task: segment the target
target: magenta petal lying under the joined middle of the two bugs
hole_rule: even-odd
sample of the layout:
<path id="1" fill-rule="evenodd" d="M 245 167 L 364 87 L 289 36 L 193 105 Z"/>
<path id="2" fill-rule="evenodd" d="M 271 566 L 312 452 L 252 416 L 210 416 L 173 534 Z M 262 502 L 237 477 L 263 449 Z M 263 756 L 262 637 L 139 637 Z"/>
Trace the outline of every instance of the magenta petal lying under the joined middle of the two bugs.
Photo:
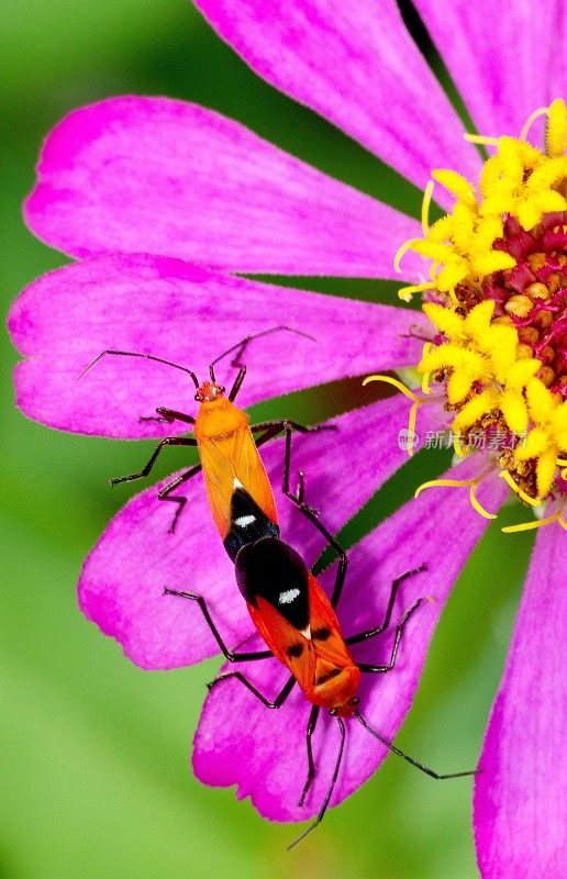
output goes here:
<path id="1" fill-rule="evenodd" d="M 397 438 L 407 410 L 405 398 L 394 397 L 335 419 L 336 431 L 292 437 L 292 488 L 301 468 L 305 500 L 324 507 L 321 521 L 332 532 L 405 461 Z M 284 442 L 271 443 L 262 455 L 275 490 L 279 489 Z M 132 469 L 144 463 L 133 449 Z M 352 478 L 353 470 L 357 479 Z M 156 486 L 133 498 L 90 553 L 80 578 L 84 613 L 144 668 L 186 666 L 219 653 L 199 608 L 164 596 L 165 587 L 202 594 L 231 646 L 253 630 L 212 523 L 200 474 L 187 483 L 185 493 L 189 503 L 175 534 L 168 533 L 173 504 L 157 499 Z M 276 497 L 282 534 L 293 534 L 305 558 L 314 561 L 324 538 L 279 491 Z"/>

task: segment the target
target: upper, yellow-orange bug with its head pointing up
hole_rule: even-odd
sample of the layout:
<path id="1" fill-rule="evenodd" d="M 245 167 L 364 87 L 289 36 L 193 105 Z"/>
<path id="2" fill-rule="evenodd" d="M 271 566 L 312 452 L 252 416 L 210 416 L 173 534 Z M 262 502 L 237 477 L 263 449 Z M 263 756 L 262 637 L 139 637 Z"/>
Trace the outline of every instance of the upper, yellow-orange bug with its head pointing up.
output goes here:
<path id="1" fill-rule="evenodd" d="M 202 469 L 214 524 L 221 535 L 226 552 L 233 560 L 241 546 L 264 536 L 279 535 L 276 501 L 264 464 L 258 454 L 258 446 L 267 443 L 269 439 L 277 436 L 278 433 L 281 433 L 281 431 L 286 431 L 286 433 L 289 434 L 293 430 L 301 433 L 309 433 L 325 429 L 320 426 L 305 427 L 302 424 L 288 420 L 265 421 L 259 424 L 251 425 L 246 413 L 234 404 L 234 399 L 246 375 L 246 367 L 240 363 L 240 358 L 246 346 L 254 340 L 281 331 L 297 333 L 307 338 L 312 338 L 312 336 L 308 336 L 305 333 L 301 333 L 299 330 L 292 330 L 289 326 L 274 326 L 256 335 L 247 336 L 236 345 L 227 348 L 227 351 L 223 352 L 223 354 L 212 361 L 209 366 L 210 380 L 203 381 L 202 383 L 199 382 L 196 374 L 191 369 L 174 364 L 170 360 L 165 360 L 162 357 L 156 357 L 153 354 L 140 354 L 125 351 L 102 352 L 79 376 L 79 378 L 84 376 L 85 372 L 94 366 L 104 355 L 145 357 L 146 359 L 156 360 L 157 363 L 166 364 L 188 372 L 196 387 L 194 399 L 200 404 L 197 419 L 184 412 L 158 407 L 156 409 L 157 416 L 153 415 L 142 418 L 141 420 L 159 421 L 168 424 L 174 421 L 180 421 L 192 425 L 194 436 L 165 437 L 156 446 L 149 460 L 140 472 L 122 476 L 118 479 L 111 479 L 110 481 L 111 485 L 115 486 L 119 482 L 130 482 L 134 479 L 148 476 L 159 453 L 165 446 L 197 446 L 201 463 L 176 477 L 171 482 L 159 490 L 157 497 L 159 500 L 173 501 L 178 504 L 169 528 L 169 531 L 173 532 L 187 503 L 187 498 L 178 494 L 173 496 L 171 492 Z M 226 389 L 216 381 L 214 367 L 220 360 L 234 352 L 237 352 L 237 354 L 232 360 L 232 366 L 237 366 L 240 369 L 226 396 Z M 329 427 L 326 427 L 326 430 L 329 430 Z M 256 442 L 254 441 L 253 433 L 260 434 Z"/>

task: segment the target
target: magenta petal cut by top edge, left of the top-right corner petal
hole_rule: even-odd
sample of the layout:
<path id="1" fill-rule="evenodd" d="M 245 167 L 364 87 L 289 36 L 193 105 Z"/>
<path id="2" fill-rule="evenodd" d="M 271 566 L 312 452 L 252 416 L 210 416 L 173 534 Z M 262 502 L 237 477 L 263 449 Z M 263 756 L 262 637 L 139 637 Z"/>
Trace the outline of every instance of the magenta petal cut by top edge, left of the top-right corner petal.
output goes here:
<path id="1" fill-rule="evenodd" d="M 423 188 L 478 156 L 393 0 L 196 0 L 259 76 Z"/>

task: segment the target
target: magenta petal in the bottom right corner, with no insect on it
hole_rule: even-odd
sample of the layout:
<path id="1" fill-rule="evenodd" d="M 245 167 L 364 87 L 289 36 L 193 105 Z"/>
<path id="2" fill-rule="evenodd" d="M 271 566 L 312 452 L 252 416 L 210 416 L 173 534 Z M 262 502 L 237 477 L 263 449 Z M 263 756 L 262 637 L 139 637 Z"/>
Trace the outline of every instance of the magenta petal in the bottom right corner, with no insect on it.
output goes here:
<path id="1" fill-rule="evenodd" d="M 475 783 L 485 879 L 565 876 L 567 535 L 537 535 Z"/>

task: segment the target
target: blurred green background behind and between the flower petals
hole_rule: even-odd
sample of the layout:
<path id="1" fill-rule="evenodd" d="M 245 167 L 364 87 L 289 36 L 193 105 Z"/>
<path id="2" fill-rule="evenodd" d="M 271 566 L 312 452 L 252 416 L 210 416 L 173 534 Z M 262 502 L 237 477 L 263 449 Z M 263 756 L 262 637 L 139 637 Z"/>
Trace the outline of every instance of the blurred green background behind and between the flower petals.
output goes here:
<path id="1" fill-rule="evenodd" d="M 2 11 L 3 313 L 64 257 L 21 220 L 42 137 L 70 109 L 110 94 L 187 98 L 237 118 L 296 155 L 410 213 L 420 194 L 333 127 L 256 79 L 185 0 L 9 0 Z M 297 282 L 297 281 L 296 281 Z M 301 283 L 393 301 L 378 282 Z M 0 877 L 477 876 L 470 782 L 436 785 L 390 757 L 297 850 L 233 791 L 191 775 L 192 732 L 218 663 L 169 672 L 134 668 L 78 612 L 81 559 L 129 497 L 107 478 L 145 459 L 144 444 L 71 436 L 13 407 L 15 353 L 2 334 L 0 613 Z M 257 407 L 264 418 L 331 415 L 344 387 Z M 147 449 L 153 444 L 146 444 Z M 176 468 L 174 454 L 157 476 Z M 353 543 L 409 498 L 426 466 L 404 468 L 344 535 Z M 446 456 L 434 467 L 441 471 Z M 509 508 L 470 559 L 435 635 L 398 742 L 442 771 L 474 766 L 505 656 L 530 535 L 502 535 Z"/>

